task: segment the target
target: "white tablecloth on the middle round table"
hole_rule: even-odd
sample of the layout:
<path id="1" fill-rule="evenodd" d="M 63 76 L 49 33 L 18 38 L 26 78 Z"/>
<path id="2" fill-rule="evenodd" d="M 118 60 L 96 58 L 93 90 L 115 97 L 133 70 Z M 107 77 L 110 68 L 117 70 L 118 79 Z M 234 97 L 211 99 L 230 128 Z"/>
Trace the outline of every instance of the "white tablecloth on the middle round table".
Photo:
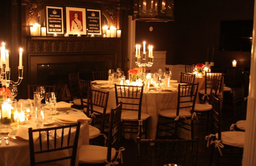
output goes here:
<path id="1" fill-rule="evenodd" d="M 110 90 L 109 88 L 100 88 L 99 86 L 95 85 L 92 86 L 92 89 L 109 92 L 108 107 L 116 107 L 115 90 Z M 159 93 L 152 90 L 151 93 L 147 93 L 146 90 L 144 90 L 141 111 L 150 115 L 148 122 L 148 139 L 156 138 L 156 127 L 160 109 L 177 108 L 177 97 L 177 91 Z"/>

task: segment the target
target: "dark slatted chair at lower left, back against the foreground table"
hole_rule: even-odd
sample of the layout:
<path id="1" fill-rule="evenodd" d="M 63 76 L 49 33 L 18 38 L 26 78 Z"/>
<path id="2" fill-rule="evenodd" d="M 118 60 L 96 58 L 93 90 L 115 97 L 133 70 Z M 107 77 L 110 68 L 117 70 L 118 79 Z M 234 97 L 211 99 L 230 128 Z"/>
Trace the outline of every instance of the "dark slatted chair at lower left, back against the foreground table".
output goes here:
<path id="1" fill-rule="evenodd" d="M 76 132 L 75 134 L 72 134 L 71 128 L 74 127 L 76 127 Z M 57 136 L 56 131 L 58 130 L 61 130 L 61 135 Z M 49 134 L 50 131 L 55 132 L 54 136 Z M 43 129 L 28 128 L 30 165 L 35 166 L 38 164 L 57 162 L 60 160 L 71 160 L 70 166 L 75 166 L 79 131 L 80 122 L 78 122 L 77 124 L 64 125 L 59 127 L 49 127 Z M 44 134 L 44 136 L 46 136 L 46 140 L 42 138 L 43 133 L 46 133 Z M 39 143 L 35 142 L 33 139 L 33 135 L 35 134 L 39 134 Z M 49 138 L 50 136 L 51 138 Z M 50 141 L 54 142 L 54 146 L 50 145 Z M 68 153 L 69 155 L 65 155 L 66 150 L 72 150 L 72 153 Z M 36 161 L 39 159 L 39 155 L 54 155 L 53 153 L 55 152 L 58 152 L 58 157 L 56 158 L 49 159 L 45 157 L 40 157 L 40 161 Z"/>

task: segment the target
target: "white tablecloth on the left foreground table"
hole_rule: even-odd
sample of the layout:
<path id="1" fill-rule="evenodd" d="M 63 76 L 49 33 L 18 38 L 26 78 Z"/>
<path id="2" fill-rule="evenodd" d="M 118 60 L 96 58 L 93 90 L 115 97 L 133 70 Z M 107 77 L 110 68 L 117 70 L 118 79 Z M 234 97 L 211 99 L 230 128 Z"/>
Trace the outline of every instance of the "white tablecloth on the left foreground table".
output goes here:
<path id="1" fill-rule="evenodd" d="M 59 111 L 60 114 L 64 114 L 65 111 L 68 109 L 62 109 Z M 82 113 L 82 112 L 81 112 Z M 32 123 L 35 121 L 35 117 L 29 120 Z M 55 123 L 52 125 L 45 125 L 46 127 L 54 127 L 56 126 Z M 72 129 L 72 134 L 75 134 L 75 129 Z M 61 135 L 61 132 L 57 132 L 58 135 Z M 3 136 L 2 136 L 3 137 Z M 67 135 L 65 135 L 67 138 Z M 60 138 L 60 137 L 59 137 Z M 46 139 L 46 135 L 42 135 L 42 139 Z M 53 146 L 54 140 L 50 138 L 50 146 Z M 35 141 L 35 144 L 39 144 L 39 139 Z M 73 143 L 72 143 L 73 144 Z M 77 158 L 76 158 L 76 165 L 78 165 L 78 156 L 79 156 L 79 147 L 82 144 L 89 144 L 89 125 L 88 121 L 84 121 L 81 123 L 80 133 L 79 133 L 79 140 L 78 140 L 78 148 L 77 148 Z M 59 152 L 60 153 L 60 152 Z M 65 152 L 65 153 L 70 153 Z M 40 155 L 43 156 L 42 158 L 54 158 L 55 155 L 58 154 L 44 154 Z M 67 160 L 57 162 L 62 166 L 68 166 L 70 163 Z M 0 165 L 5 166 L 28 166 L 30 165 L 30 157 L 29 157 L 29 144 L 27 140 L 13 140 L 9 139 L 9 145 L 5 145 L 5 140 L 2 139 L 2 145 L 0 145 Z"/>

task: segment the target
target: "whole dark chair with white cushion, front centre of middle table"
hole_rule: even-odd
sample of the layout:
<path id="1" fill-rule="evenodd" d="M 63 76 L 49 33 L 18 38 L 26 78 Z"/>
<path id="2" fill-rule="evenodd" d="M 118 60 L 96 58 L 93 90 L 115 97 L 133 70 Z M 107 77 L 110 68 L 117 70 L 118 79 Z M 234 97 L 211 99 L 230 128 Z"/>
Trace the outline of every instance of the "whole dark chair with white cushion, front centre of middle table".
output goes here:
<path id="1" fill-rule="evenodd" d="M 116 85 L 116 105 L 123 101 L 122 125 L 123 133 L 137 133 L 139 137 L 148 137 L 148 119 L 150 115 L 141 112 L 143 86 Z"/>

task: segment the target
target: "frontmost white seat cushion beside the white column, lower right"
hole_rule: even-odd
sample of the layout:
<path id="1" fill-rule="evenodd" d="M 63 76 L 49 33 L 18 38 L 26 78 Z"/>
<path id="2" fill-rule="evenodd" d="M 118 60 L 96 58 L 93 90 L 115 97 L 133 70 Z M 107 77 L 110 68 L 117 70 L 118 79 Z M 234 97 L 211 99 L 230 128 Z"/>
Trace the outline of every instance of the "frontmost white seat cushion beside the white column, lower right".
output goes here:
<path id="1" fill-rule="evenodd" d="M 244 134 L 245 132 L 221 132 L 221 140 L 223 144 L 233 147 L 244 147 Z M 216 133 L 218 139 L 218 133 Z M 224 145 L 225 146 L 225 145 Z"/>

